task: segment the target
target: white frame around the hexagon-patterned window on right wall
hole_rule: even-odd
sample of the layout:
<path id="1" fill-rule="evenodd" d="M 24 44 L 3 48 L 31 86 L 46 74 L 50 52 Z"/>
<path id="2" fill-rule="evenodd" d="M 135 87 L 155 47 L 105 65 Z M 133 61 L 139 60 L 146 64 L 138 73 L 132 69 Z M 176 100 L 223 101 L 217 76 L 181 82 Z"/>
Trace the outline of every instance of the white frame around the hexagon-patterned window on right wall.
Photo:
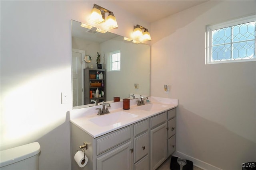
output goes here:
<path id="1" fill-rule="evenodd" d="M 234 25 L 240 25 L 243 23 L 248 23 L 248 22 L 254 22 L 256 21 L 256 15 L 252 16 L 246 16 L 243 18 L 235 19 L 235 20 L 230 20 L 226 21 L 223 23 L 219 24 L 214 24 L 214 25 L 206 25 L 206 59 L 205 59 L 205 64 L 218 64 L 218 63 L 236 63 L 236 62 L 248 62 L 248 61 L 256 61 L 256 58 L 254 59 L 235 59 L 235 60 L 225 60 L 225 61 L 211 61 L 212 59 L 212 30 L 216 29 L 222 29 Z M 256 40 L 254 43 L 254 55 L 256 55 Z"/>

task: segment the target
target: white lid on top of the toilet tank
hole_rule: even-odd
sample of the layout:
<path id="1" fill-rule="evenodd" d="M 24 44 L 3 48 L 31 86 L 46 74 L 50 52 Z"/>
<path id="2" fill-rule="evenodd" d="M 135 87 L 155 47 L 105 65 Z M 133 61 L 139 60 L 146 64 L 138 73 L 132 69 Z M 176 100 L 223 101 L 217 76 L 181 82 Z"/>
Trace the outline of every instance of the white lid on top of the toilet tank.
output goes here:
<path id="1" fill-rule="evenodd" d="M 0 167 L 14 164 L 18 161 L 35 156 L 40 152 L 40 150 L 41 149 L 38 142 L 2 150 L 0 153 Z"/>

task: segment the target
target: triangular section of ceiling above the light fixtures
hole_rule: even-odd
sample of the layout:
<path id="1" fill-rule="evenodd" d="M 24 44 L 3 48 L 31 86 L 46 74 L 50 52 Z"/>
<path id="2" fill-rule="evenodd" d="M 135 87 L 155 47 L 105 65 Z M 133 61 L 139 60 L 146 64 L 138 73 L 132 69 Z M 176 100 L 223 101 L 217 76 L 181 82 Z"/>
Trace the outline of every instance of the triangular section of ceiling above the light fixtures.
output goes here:
<path id="1" fill-rule="evenodd" d="M 207 0 L 112 0 L 116 6 L 152 23 Z"/>

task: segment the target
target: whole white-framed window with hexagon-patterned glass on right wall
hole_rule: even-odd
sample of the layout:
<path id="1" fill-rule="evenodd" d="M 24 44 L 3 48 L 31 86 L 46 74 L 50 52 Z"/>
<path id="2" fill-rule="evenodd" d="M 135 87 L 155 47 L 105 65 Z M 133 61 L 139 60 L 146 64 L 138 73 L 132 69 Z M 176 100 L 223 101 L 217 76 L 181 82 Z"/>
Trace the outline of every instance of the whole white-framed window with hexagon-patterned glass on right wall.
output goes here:
<path id="1" fill-rule="evenodd" d="M 206 64 L 256 61 L 256 16 L 206 26 Z"/>

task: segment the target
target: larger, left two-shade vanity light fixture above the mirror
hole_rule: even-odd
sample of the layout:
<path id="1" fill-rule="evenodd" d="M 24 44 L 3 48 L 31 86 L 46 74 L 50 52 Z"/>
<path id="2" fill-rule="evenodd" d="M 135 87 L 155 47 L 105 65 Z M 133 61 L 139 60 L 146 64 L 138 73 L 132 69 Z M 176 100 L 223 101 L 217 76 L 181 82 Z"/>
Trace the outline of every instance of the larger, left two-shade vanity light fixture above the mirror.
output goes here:
<path id="1" fill-rule="evenodd" d="M 106 19 L 105 19 L 105 13 L 108 13 L 108 16 L 106 17 Z M 93 5 L 89 21 L 92 21 L 96 24 L 105 22 L 105 26 L 110 29 L 118 27 L 114 13 L 111 12 L 110 10 L 102 8 L 101 6 L 98 6 L 97 4 Z"/>

